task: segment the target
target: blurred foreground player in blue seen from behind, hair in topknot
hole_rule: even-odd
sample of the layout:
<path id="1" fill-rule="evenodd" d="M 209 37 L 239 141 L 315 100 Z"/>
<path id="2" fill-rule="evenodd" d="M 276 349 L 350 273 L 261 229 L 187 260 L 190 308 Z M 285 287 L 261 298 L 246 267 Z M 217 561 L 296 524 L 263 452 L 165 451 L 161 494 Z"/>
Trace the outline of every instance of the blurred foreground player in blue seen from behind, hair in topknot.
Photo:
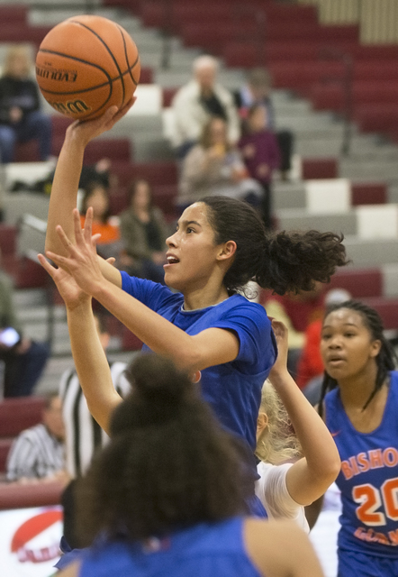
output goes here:
<path id="1" fill-rule="evenodd" d="M 106 366 L 98 345 L 90 353 Z M 247 517 L 233 437 L 188 376 L 142 355 L 127 378 L 111 442 L 77 484 L 77 530 L 91 546 L 59 577 L 321 577 L 293 522 Z"/>

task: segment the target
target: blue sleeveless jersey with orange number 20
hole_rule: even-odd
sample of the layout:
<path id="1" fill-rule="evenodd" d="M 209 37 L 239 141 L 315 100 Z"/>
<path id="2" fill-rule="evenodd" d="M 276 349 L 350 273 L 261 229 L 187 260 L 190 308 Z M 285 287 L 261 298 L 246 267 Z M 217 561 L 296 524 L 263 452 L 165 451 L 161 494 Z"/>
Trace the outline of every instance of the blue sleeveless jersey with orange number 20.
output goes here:
<path id="1" fill-rule="evenodd" d="M 325 408 L 341 459 L 339 549 L 398 558 L 398 372 L 390 374 L 383 419 L 371 433 L 351 424 L 338 388 Z"/>

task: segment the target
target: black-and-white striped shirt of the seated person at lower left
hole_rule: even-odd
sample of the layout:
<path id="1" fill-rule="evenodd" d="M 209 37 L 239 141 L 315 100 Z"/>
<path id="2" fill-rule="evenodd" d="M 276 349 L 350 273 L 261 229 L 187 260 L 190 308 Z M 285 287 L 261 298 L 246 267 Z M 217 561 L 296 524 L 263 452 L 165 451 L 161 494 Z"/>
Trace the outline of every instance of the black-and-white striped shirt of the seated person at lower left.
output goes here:
<path id="1" fill-rule="evenodd" d="M 6 464 L 7 481 L 43 479 L 65 469 L 65 445 L 43 425 L 32 426 L 14 440 Z"/>

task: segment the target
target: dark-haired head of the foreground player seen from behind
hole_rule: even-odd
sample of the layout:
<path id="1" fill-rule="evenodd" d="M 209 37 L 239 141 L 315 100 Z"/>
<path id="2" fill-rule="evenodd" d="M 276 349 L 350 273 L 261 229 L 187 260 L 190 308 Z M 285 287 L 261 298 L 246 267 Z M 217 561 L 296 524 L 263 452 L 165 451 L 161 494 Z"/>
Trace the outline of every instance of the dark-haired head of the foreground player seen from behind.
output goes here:
<path id="1" fill-rule="evenodd" d="M 131 396 L 77 492 L 85 543 L 101 531 L 140 539 L 245 512 L 238 453 L 185 373 L 147 354 L 126 375 Z"/>

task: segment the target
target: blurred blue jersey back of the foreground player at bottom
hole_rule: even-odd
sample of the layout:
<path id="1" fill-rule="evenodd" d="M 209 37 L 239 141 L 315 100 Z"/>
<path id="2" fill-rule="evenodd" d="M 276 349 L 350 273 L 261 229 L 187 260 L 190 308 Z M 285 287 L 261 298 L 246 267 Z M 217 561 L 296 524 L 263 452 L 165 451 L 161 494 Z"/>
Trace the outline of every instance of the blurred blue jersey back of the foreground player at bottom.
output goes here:
<path id="1" fill-rule="evenodd" d="M 260 577 L 243 544 L 243 524 L 233 517 L 143 544 L 100 543 L 85 552 L 79 577 Z"/>

